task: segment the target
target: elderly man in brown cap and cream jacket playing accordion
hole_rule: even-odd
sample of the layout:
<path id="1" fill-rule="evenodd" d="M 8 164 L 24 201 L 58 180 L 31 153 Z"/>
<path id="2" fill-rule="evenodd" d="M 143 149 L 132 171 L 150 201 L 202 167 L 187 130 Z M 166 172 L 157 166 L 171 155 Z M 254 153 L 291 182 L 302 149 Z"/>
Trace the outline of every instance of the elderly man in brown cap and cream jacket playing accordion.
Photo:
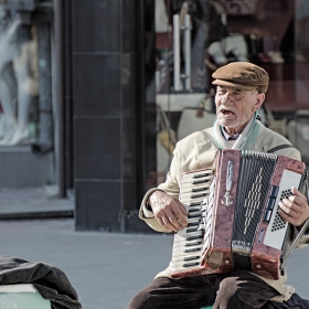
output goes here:
<path id="1" fill-rule="evenodd" d="M 181 174 L 185 171 L 209 168 L 222 149 L 242 149 L 274 152 L 300 160 L 300 153 L 290 142 L 264 127 L 257 119 L 257 110 L 265 99 L 268 87 L 267 72 L 246 62 L 230 63 L 212 75 L 216 85 L 216 120 L 206 131 L 194 132 L 180 140 L 167 181 L 147 192 L 140 217 L 158 232 L 178 232 L 187 226 L 188 212 L 178 200 Z M 213 145 L 216 143 L 216 145 Z M 296 188 L 294 196 L 279 203 L 279 214 L 295 226 L 294 235 L 309 217 L 306 196 Z M 309 235 L 300 242 L 305 245 Z M 230 274 L 201 275 L 172 279 L 171 269 L 157 275 L 153 283 L 141 290 L 131 301 L 130 309 L 200 309 L 214 308 L 309 308 L 309 301 L 301 299 L 290 286 L 279 280 L 258 277 L 246 270 Z"/>

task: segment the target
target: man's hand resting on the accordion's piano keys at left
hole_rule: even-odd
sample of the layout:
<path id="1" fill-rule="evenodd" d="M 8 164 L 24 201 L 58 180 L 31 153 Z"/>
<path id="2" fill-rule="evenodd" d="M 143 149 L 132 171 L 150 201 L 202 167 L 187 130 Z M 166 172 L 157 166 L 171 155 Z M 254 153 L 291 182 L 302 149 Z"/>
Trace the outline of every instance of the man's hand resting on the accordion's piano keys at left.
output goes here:
<path id="1" fill-rule="evenodd" d="M 159 223 L 171 232 L 178 232 L 187 226 L 189 212 L 178 199 L 162 191 L 154 191 L 149 202 L 154 217 Z"/>

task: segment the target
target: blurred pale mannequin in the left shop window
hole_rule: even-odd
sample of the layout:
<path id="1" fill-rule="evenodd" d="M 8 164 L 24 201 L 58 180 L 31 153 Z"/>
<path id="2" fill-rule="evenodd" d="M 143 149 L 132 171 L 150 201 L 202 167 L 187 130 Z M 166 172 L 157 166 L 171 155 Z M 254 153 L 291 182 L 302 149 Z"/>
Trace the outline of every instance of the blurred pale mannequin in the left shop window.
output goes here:
<path id="1" fill-rule="evenodd" d="M 29 142 L 29 108 L 32 96 L 38 95 L 38 40 L 21 44 L 18 31 L 20 22 L 14 19 L 0 39 L 0 100 L 3 109 L 4 135 L 0 145 Z M 8 55 L 11 60 L 1 55 Z M 10 70 L 11 68 L 11 70 Z M 17 104 L 14 104 L 17 98 Z"/>

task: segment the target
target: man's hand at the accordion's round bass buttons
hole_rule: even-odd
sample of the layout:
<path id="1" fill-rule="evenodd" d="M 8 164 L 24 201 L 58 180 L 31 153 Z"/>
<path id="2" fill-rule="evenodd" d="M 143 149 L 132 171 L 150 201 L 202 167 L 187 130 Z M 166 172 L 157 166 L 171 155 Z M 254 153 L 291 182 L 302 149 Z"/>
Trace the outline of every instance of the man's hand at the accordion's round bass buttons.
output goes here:
<path id="1" fill-rule="evenodd" d="M 294 195 L 279 202 L 279 214 L 294 226 L 300 226 L 309 217 L 309 206 L 306 196 L 295 187 L 291 188 L 291 192 Z"/>

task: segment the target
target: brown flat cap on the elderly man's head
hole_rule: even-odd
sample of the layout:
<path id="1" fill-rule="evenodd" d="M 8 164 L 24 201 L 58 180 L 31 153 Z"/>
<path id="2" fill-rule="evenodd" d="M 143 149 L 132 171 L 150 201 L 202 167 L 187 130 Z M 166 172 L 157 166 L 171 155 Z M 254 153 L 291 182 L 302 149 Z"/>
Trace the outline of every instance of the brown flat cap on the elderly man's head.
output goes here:
<path id="1" fill-rule="evenodd" d="M 237 87 L 243 90 L 257 89 L 266 93 L 269 83 L 268 73 L 249 62 L 232 62 L 217 68 L 212 77 L 214 85 Z"/>

